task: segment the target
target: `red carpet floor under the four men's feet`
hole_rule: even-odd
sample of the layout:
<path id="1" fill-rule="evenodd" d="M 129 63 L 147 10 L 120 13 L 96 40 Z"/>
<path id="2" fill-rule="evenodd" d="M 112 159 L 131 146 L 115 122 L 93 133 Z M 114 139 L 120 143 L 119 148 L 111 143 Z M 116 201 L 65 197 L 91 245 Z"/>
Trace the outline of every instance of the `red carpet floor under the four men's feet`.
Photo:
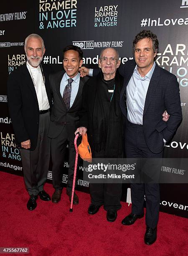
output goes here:
<path id="1" fill-rule="evenodd" d="M 36 209 L 28 211 L 23 177 L 0 172 L 0 184 L 0 247 L 28 247 L 32 256 L 188 255 L 188 219 L 161 212 L 158 239 L 147 246 L 144 218 L 132 226 L 121 224 L 131 210 L 127 203 L 109 223 L 102 207 L 96 215 L 87 213 L 90 197 L 82 192 L 77 192 L 79 205 L 69 212 L 64 189 L 58 204 L 39 198 Z M 51 184 L 45 190 L 52 195 Z"/>

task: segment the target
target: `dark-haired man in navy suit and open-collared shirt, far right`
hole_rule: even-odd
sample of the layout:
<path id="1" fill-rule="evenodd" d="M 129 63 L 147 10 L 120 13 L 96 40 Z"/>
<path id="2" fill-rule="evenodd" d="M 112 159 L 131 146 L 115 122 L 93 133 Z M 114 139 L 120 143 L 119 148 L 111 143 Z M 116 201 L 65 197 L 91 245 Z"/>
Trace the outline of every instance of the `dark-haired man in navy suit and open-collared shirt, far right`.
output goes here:
<path id="1" fill-rule="evenodd" d="M 133 41 L 135 60 L 127 61 L 120 73 L 124 87 L 120 107 L 126 118 L 125 151 L 127 158 L 162 158 L 164 143 L 169 141 L 182 120 L 179 84 L 175 75 L 158 67 L 155 56 L 158 39 L 151 31 L 142 31 Z M 164 110 L 170 118 L 161 119 Z M 132 225 L 144 216 L 146 199 L 145 243 L 157 238 L 159 184 L 131 184 L 132 212 L 122 220 Z"/>

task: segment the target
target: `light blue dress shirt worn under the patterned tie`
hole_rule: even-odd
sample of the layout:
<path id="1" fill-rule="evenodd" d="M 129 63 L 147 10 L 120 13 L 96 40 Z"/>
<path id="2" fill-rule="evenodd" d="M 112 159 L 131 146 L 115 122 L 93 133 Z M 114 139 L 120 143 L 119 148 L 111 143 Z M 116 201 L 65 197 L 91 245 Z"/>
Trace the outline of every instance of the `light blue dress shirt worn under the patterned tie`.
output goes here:
<path id="1" fill-rule="evenodd" d="M 70 77 L 65 73 L 63 78 L 61 79 L 61 84 L 60 84 L 60 93 L 61 96 L 63 97 L 64 95 L 64 89 L 66 85 L 68 84 L 68 79 Z M 72 82 L 72 88 L 71 88 L 71 102 L 70 102 L 70 108 L 72 107 L 74 100 L 76 98 L 76 95 L 79 90 L 79 83 L 80 83 L 80 73 L 78 73 L 75 77 L 72 78 L 74 81 Z"/>

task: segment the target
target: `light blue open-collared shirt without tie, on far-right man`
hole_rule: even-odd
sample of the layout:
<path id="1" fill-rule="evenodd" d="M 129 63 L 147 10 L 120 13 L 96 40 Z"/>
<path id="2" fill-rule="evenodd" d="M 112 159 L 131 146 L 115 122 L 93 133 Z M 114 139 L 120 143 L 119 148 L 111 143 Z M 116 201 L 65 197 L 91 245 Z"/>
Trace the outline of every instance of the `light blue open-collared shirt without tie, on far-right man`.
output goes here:
<path id="1" fill-rule="evenodd" d="M 127 119 L 131 123 L 143 124 L 145 98 L 154 69 L 155 61 L 145 77 L 141 77 L 136 65 L 132 77 L 127 85 Z"/>

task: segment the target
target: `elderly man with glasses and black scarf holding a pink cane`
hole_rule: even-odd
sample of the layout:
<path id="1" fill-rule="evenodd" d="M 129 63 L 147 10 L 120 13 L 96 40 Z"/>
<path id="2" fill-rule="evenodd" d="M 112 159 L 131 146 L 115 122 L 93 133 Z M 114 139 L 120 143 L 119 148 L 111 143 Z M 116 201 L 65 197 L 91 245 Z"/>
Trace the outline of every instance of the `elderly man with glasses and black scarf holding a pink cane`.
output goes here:
<path id="1" fill-rule="evenodd" d="M 80 125 L 76 130 L 88 135 L 94 158 L 120 158 L 123 156 L 123 117 L 119 107 L 123 77 L 117 72 L 119 54 L 113 48 L 102 50 L 99 59 L 101 72 L 91 77 L 83 88 L 83 109 Z M 93 215 L 104 205 L 107 220 L 117 218 L 121 208 L 122 184 L 90 183 L 91 205 L 88 213 Z"/>

